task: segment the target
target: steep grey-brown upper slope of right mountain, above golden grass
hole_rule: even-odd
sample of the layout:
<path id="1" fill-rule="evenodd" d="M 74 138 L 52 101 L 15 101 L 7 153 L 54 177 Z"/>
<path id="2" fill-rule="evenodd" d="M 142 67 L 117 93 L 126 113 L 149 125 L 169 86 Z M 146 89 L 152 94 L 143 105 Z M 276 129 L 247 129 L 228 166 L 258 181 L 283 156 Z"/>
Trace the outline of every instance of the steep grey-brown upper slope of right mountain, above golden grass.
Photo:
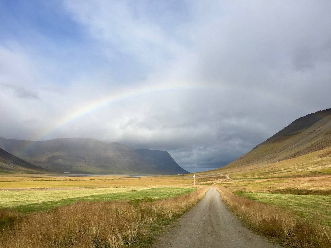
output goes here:
<path id="1" fill-rule="evenodd" d="M 331 108 L 308 114 L 223 167 L 266 164 L 331 147 Z"/>

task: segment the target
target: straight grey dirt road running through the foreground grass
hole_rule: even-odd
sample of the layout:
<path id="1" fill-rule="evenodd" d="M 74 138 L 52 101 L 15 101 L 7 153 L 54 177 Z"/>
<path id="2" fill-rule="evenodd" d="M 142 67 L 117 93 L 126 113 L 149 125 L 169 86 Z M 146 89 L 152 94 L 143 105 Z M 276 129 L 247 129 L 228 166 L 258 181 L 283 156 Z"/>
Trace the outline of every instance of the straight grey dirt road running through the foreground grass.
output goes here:
<path id="1" fill-rule="evenodd" d="M 183 215 L 152 247 L 158 248 L 276 248 L 253 233 L 227 210 L 215 188 L 191 211 Z"/>

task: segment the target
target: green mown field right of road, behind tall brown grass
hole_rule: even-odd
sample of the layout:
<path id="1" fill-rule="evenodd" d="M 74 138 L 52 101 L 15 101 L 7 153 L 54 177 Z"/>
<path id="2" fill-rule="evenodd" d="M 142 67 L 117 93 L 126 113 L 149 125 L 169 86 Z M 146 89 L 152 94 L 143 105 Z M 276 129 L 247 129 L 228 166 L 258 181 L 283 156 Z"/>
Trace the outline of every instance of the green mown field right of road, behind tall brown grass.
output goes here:
<path id="1" fill-rule="evenodd" d="M 331 195 L 294 195 L 274 193 L 246 193 L 238 192 L 247 198 L 277 205 L 297 213 L 311 221 L 325 222 L 331 226 Z"/>

